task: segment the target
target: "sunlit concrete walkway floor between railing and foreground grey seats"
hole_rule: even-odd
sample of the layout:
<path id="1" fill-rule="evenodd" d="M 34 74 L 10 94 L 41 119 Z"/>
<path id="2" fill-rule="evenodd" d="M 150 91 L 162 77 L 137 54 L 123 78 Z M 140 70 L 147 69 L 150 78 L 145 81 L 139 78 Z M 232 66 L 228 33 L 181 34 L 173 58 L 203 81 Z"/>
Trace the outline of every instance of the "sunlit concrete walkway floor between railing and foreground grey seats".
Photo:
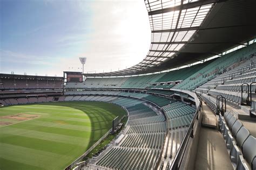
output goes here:
<path id="1" fill-rule="evenodd" d="M 222 134 L 201 127 L 194 169 L 233 169 Z"/>

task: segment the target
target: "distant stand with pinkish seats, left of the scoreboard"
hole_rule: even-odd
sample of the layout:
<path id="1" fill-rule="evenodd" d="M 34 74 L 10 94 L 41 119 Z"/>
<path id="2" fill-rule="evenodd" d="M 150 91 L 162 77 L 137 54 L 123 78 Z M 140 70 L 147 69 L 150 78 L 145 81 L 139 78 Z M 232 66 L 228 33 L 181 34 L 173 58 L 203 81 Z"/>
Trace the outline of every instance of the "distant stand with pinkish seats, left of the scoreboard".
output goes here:
<path id="1" fill-rule="evenodd" d="M 4 105 L 51 102 L 63 95 L 64 77 L 0 74 L 0 82 Z"/>

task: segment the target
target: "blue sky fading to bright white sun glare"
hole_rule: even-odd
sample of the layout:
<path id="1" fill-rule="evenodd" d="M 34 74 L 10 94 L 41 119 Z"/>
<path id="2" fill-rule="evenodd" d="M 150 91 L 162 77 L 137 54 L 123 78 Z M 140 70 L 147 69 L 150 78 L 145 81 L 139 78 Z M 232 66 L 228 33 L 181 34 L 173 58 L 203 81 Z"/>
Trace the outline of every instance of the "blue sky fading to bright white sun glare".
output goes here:
<path id="1" fill-rule="evenodd" d="M 0 73 L 63 76 L 136 65 L 150 48 L 144 1 L 0 1 Z"/>

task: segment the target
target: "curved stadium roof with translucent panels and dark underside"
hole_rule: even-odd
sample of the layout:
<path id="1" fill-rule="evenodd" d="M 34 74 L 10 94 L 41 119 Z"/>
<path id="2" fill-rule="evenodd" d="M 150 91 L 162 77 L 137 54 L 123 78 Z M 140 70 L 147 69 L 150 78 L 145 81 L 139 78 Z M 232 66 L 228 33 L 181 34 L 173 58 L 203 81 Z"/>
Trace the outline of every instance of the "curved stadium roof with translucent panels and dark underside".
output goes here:
<path id="1" fill-rule="evenodd" d="M 201 61 L 255 38 L 255 0 L 147 0 L 151 46 L 137 65 L 85 76 L 160 72 Z"/>

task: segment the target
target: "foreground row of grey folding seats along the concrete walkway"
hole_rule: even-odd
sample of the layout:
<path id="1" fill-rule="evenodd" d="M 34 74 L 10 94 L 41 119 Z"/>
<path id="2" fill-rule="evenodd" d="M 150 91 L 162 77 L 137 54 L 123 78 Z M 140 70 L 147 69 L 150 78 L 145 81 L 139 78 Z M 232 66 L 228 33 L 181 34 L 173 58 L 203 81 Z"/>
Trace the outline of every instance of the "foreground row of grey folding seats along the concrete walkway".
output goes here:
<path id="1" fill-rule="evenodd" d="M 219 116 L 220 131 L 235 169 L 256 169 L 256 138 L 230 112 Z"/>

